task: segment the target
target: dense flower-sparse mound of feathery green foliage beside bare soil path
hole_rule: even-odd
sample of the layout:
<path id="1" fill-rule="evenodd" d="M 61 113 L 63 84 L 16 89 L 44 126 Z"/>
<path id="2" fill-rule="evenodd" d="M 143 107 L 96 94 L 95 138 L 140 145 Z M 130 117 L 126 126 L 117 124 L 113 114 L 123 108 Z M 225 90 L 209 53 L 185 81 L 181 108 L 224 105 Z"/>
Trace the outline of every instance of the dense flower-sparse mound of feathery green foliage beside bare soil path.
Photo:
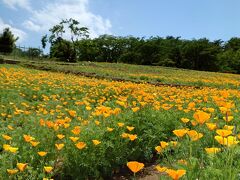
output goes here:
<path id="1" fill-rule="evenodd" d="M 101 127 L 94 130 L 88 128 L 87 133 L 81 134 L 82 139 L 90 142 L 89 147 L 76 151 L 72 145 L 72 148 L 67 149 L 63 178 L 75 179 L 81 174 L 81 178 L 108 179 L 128 161 L 138 159 L 149 162 L 155 156 L 152 147 L 158 144 L 159 140 L 169 139 L 172 130 L 179 125 L 178 113 L 155 111 L 151 107 L 143 108 L 137 113 L 131 111 L 126 113 L 108 118 Z M 129 132 L 124 127 L 118 127 L 116 119 L 125 123 L 124 126 L 134 125 L 135 129 L 130 133 L 138 135 L 135 141 L 121 137 L 122 133 Z M 107 127 L 113 127 L 114 130 L 104 131 Z M 91 143 L 93 138 L 101 139 L 102 143 L 94 147 Z"/>

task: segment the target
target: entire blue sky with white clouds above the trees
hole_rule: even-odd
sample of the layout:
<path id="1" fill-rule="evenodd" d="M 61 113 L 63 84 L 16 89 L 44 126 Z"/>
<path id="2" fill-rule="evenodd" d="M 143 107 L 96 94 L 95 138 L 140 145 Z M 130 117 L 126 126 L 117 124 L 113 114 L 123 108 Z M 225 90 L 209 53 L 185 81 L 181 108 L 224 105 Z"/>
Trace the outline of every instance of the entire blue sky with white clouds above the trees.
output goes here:
<path id="1" fill-rule="evenodd" d="M 17 44 L 39 47 L 61 19 L 74 18 L 91 36 L 240 37 L 239 0 L 0 0 L 0 31 L 10 27 Z"/>

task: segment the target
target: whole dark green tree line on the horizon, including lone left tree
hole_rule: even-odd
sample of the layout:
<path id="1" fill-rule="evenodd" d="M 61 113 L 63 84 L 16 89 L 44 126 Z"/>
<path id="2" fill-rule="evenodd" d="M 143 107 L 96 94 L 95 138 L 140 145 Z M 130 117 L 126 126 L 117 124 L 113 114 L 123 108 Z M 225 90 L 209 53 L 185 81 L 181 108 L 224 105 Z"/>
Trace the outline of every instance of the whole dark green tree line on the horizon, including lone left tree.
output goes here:
<path id="1" fill-rule="evenodd" d="M 12 52 L 16 41 L 17 38 L 6 28 L 0 34 L 0 52 Z M 50 58 L 66 62 L 121 62 L 240 73 L 238 37 L 225 42 L 173 36 L 139 38 L 101 35 L 89 38 L 89 29 L 70 18 L 53 26 L 49 34 L 42 37 L 41 43 L 43 48 L 50 44 Z"/>

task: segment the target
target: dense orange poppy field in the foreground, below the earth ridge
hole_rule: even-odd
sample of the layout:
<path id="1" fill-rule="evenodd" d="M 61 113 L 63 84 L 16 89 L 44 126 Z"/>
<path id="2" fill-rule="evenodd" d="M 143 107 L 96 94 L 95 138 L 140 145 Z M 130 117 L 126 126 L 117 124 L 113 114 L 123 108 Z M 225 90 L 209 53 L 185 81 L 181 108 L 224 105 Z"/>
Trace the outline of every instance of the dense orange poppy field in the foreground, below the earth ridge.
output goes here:
<path id="1" fill-rule="evenodd" d="M 132 179 L 154 164 L 159 179 L 239 179 L 239 99 L 237 86 L 154 86 L 0 65 L 0 176 Z"/>

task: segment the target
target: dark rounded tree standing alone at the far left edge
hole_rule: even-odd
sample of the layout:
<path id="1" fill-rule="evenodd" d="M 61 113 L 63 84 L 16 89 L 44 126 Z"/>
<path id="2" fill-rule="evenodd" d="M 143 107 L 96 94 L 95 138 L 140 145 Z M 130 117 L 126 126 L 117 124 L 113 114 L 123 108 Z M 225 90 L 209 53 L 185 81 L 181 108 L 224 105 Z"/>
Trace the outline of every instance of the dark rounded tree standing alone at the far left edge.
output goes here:
<path id="1" fill-rule="evenodd" d="M 0 52 L 11 53 L 15 48 L 15 42 L 18 37 L 15 38 L 9 28 L 5 28 L 3 33 L 0 34 Z"/>

